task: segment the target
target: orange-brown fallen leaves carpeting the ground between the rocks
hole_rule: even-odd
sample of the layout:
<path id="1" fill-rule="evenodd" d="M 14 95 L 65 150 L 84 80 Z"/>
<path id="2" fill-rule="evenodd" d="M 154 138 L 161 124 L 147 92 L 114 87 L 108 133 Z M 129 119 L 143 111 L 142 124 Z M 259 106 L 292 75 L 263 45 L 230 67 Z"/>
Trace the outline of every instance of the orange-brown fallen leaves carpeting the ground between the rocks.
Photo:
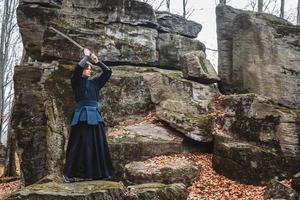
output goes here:
<path id="1" fill-rule="evenodd" d="M 188 187 L 188 200 L 260 200 L 263 199 L 264 186 L 240 184 L 217 174 L 212 169 L 212 154 L 210 153 L 184 153 L 175 157 L 186 157 L 194 160 L 199 167 L 199 173 L 193 184 Z M 154 162 L 165 162 L 174 159 L 174 156 L 154 157 Z M 282 181 L 290 184 L 289 181 Z M 21 187 L 20 180 L 0 183 L 0 199 L 8 196 Z"/>

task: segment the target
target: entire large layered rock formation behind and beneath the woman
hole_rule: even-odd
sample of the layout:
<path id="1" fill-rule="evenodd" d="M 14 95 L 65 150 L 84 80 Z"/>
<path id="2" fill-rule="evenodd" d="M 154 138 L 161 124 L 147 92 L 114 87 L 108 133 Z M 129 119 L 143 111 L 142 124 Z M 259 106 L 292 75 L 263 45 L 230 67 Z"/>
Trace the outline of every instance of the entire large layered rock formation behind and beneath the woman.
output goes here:
<path id="1" fill-rule="evenodd" d="M 70 76 L 81 56 L 78 46 L 54 29 L 93 50 L 113 69 L 101 89 L 99 106 L 116 178 L 121 180 L 129 162 L 191 149 L 185 136 L 212 141 L 214 123 L 208 105 L 219 94 L 217 88 L 186 80 L 180 70 L 174 70 L 181 69 L 183 54 L 205 51 L 204 44 L 195 39 L 201 25 L 154 12 L 135 0 L 21 0 L 17 17 L 26 54 L 38 61 L 25 62 L 15 71 L 12 128 L 17 135 L 22 182 L 28 187 L 10 199 L 186 199 L 182 183 L 129 189 L 116 182 L 88 182 L 67 187 L 58 178 L 41 178 L 63 171 L 70 118 L 76 107 Z M 149 113 L 158 116 L 155 123 L 137 123 L 149 120 Z M 122 134 L 114 135 L 115 126 L 130 123 L 133 125 L 123 127 Z M 186 172 L 172 179 L 186 184 L 196 171 L 185 165 L 173 170 Z M 75 193 L 69 195 L 72 190 Z"/>

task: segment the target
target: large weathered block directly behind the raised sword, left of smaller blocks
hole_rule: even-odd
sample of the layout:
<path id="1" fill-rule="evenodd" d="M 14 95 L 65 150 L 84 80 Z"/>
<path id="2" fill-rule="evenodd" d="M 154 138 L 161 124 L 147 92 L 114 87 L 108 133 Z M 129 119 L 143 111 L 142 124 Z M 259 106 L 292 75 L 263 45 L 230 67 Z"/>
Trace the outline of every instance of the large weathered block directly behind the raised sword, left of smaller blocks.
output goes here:
<path id="1" fill-rule="evenodd" d="M 149 4 L 134 0 L 76 1 L 72 5 L 64 2 L 57 9 L 48 7 L 43 0 L 24 1 L 17 15 L 25 49 L 34 59 L 77 61 L 80 58 L 77 46 L 48 29 L 54 26 L 94 50 L 104 61 L 157 62 L 157 23 Z M 134 57 L 130 58 L 131 55 Z M 146 63 L 141 62 L 143 59 Z"/>

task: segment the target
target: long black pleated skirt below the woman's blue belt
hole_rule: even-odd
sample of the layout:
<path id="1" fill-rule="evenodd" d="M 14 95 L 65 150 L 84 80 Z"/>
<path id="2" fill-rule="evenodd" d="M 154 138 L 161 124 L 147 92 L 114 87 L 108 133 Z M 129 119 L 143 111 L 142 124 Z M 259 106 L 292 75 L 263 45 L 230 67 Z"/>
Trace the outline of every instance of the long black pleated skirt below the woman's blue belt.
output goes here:
<path id="1" fill-rule="evenodd" d="M 64 166 L 65 176 L 93 180 L 114 176 L 104 126 L 103 122 L 89 125 L 85 121 L 71 126 Z"/>

